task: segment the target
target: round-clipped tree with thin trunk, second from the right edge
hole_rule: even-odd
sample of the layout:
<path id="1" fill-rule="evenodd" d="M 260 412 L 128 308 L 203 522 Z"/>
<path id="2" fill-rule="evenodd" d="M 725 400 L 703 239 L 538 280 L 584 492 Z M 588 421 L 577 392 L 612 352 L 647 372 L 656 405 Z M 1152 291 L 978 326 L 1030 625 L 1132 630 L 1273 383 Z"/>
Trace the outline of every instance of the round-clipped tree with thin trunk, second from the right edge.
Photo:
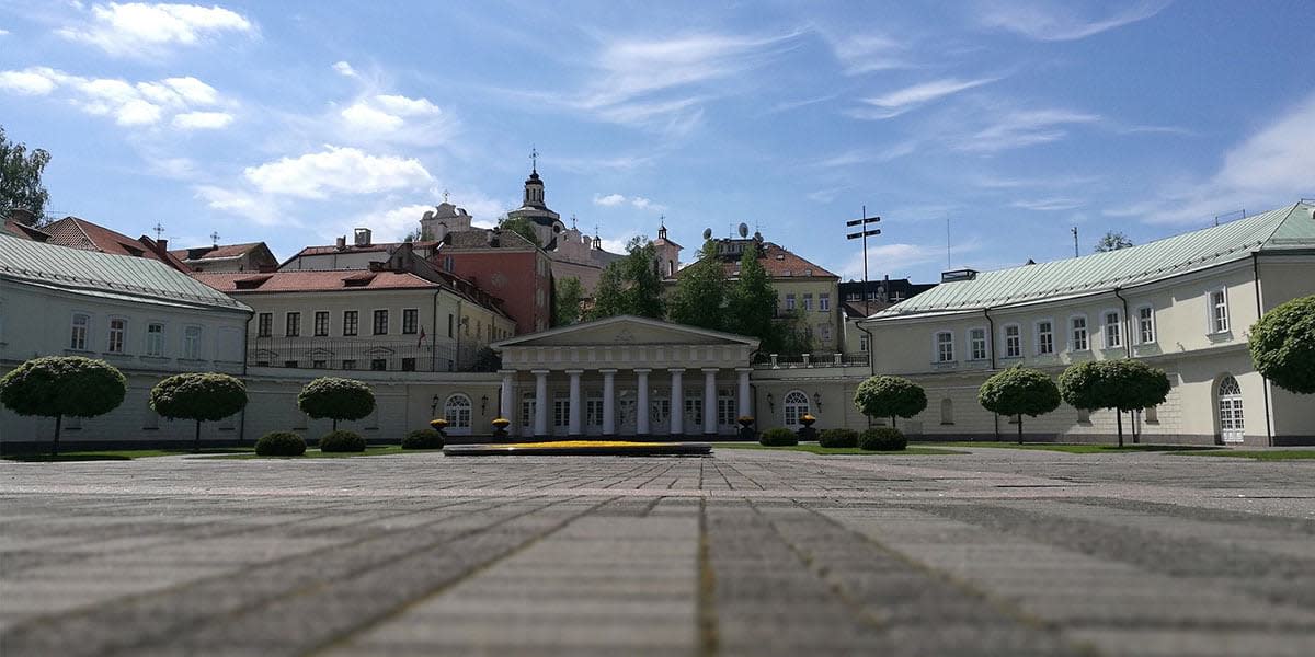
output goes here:
<path id="1" fill-rule="evenodd" d="M 1074 409 L 1114 409 L 1123 447 L 1123 413 L 1164 403 L 1172 385 L 1162 369 L 1140 360 L 1094 360 L 1060 374 L 1060 397 Z"/>

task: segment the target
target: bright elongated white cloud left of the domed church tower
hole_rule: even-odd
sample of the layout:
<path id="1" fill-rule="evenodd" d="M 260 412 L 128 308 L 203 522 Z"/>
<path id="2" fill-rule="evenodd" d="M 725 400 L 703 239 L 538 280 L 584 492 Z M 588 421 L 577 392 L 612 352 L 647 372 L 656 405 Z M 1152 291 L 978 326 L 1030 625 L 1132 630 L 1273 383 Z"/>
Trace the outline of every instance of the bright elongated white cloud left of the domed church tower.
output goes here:
<path id="1" fill-rule="evenodd" d="M 433 179 L 414 158 L 376 156 L 329 145 L 321 152 L 247 167 L 243 173 L 262 192 L 302 198 L 409 189 Z"/>

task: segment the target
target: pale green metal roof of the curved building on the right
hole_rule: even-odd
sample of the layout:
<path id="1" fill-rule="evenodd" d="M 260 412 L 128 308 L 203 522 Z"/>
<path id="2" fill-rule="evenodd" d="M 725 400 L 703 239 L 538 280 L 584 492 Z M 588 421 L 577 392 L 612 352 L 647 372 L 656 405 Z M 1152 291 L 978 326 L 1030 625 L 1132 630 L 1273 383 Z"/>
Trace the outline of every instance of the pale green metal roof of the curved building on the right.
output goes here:
<path id="1" fill-rule="evenodd" d="M 1252 252 L 1315 248 L 1315 205 L 1298 202 L 1220 226 L 1145 244 L 1051 263 L 981 272 L 942 283 L 872 315 L 977 310 L 1107 292 L 1251 258 Z"/>

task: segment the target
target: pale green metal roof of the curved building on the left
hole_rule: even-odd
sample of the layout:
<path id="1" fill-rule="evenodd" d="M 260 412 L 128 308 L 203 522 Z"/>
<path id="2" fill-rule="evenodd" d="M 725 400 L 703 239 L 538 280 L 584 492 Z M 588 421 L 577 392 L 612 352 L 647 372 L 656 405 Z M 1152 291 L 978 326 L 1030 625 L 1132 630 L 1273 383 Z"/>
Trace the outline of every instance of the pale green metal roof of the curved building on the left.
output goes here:
<path id="1" fill-rule="evenodd" d="M 107 298 L 251 310 L 158 260 L 83 251 L 8 235 L 0 235 L 0 277 Z"/>

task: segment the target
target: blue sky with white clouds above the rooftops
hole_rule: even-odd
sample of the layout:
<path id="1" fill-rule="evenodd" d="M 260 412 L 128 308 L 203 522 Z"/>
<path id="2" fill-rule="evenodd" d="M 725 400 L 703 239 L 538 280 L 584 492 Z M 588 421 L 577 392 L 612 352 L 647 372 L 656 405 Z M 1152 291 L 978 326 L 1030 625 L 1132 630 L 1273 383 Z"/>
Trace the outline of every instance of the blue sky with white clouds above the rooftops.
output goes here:
<path id="1" fill-rule="evenodd" d="M 608 244 L 746 222 L 844 277 L 935 280 L 1315 196 L 1315 5 L 1294 1 L 0 0 L 0 125 L 51 209 L 280 258 L 398 238 L 444 191 Z M 1224 218 L 1231 218 L 1226 215 Z"/>

